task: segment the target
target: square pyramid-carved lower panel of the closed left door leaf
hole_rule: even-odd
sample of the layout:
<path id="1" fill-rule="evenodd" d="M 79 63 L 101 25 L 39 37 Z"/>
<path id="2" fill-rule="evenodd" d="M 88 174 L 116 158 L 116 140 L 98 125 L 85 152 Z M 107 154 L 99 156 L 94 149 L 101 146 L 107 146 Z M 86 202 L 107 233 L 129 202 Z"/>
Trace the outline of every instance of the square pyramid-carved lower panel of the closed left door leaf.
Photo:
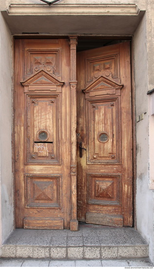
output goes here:
<path id="1" fill-rule="evenodd" d="M 60 207 L 60 175 L 25 175 L 26 207 Z"/>

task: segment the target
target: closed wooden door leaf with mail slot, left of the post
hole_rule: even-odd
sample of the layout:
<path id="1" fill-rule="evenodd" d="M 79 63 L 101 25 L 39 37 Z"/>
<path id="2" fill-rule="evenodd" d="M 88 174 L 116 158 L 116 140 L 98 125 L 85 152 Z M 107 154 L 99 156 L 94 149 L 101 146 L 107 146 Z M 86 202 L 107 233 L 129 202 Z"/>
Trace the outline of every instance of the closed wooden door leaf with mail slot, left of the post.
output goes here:
<path id="1" fill-rule="evenodd" d="M 70 228 L 69 82 L 68 40 L 15 40 L 17 228 Z"/>

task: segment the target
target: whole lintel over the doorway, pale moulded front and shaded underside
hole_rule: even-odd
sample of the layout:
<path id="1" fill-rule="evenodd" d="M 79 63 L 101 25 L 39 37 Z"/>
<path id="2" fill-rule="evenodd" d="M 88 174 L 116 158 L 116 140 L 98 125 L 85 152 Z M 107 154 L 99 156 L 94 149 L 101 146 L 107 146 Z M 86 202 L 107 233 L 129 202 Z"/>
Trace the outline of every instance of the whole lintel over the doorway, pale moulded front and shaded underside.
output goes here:
<path id="1" fill-rule="evenodd" d="M 14 35 L 133 35 L 144 11 L 135 4 L 11 4 L 1 11 Z"/>

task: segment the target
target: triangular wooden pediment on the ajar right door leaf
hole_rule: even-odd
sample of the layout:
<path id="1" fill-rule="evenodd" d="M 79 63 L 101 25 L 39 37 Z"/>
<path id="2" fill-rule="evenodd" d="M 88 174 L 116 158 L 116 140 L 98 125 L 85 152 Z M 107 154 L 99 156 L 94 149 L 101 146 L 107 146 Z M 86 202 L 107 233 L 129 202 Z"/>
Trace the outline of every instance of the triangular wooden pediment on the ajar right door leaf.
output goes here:
<path id="1" fill-rule="evenodd" d="M 123 85 L 117 84 L 114 80 L 108 79 L 106 77 L 100 76 L 95 81 L 93 81 L 83 92 L 90 92 L 95 90 L 113 90 L 122 89 Z"/>

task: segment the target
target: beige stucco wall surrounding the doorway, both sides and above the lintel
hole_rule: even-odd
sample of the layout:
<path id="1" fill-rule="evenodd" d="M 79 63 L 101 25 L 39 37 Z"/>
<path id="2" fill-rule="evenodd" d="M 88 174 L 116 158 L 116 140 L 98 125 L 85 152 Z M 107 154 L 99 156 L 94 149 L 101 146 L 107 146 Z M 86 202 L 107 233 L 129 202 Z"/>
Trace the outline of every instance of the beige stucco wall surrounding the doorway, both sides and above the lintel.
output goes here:
<path id="1" fill-rule="evenodd" d="M 0 10 L 6 10 L 11 3 L 40 4 L 42 2 L 39 0 L 5 0 L 0 1 Z M 135 179 L 135 210 L 137 229 L 150 244 L 150 258 L 154 261 L 154 191 L 150 188 L 150 183 L 151 186 L 153 185 L 151 180 L 154 179 L 154 115 L 150 114 L 150 97 L 147 95 L 147 91 L 154 88 L 154 1 L 61 0 L 58 3 L 134 3 L 137 4 L 140 10 L 146 11 L 144 18 L 134 33 L 136 116 L 146 112 L 143 120 L 136 123 L 137 176 Z M 0 115 L 3 115 L 0 119 L 0 126 L 2 127 L 0 133 L 0 193 L 2 194 L 2 210 L 0 214 L 2 219 L 2 241 L 7 238 L 13 229 L 13 191 L 11 175 L 11 55 L 11 35 L 0 16 Z"/>

